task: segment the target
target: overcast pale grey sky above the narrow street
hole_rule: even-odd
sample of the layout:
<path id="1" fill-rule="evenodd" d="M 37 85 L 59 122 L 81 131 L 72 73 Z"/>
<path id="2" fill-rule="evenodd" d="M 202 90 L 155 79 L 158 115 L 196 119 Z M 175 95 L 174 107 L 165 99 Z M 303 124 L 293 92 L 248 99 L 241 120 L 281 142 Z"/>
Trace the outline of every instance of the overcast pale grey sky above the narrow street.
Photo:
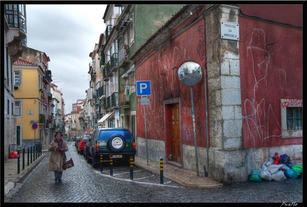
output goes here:
<path id="1" fill-rule="evenodd" d="M 63 93 L 65 114 L 85 99 L 90 53 L 104 33 L 105 4 L 26 4 L 27 46 L 50 58 L 53 83 Z"/>

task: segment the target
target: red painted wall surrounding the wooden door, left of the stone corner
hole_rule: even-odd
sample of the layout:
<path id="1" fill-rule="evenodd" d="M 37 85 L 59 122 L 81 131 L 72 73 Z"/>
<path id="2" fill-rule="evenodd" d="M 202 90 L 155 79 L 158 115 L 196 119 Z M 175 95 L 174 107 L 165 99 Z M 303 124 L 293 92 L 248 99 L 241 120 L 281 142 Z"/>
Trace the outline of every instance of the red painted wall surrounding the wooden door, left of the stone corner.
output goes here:
<path id="1" fill-rule="evenodd" d="M 188 24 L 189 21 L 190 19 L 181 26 Z M 172 68 L 179 68 L 179 65 L 186 60 L 194 60 L 204 68 L 204 34 L 204 22 L 203 19 L 200 19 L 198 23 L 176 37 L 169 46 L 154 53 L 141 65 L 138 64 L 146 58 L 146 55 L 136 60 L 136 65 L 138 65 L 136 80 L 151 80 L 150 105 L 145 106 L 148 139 L 166 141 L 166 130 L 169 129 L 165 129 L 163 101 L 170 99 L 172 96 L 173 98 L 179 97 L 181 102 L 182 144 L 194 145 L 190 86 L 181 83 L 178 79 L 178 69 L 173 70 Z M 200 82 L 193 86 L 193 98 L 198 147 L 206 147 L 204 75 Z M 137 102 L 136 110 L 137 134 L 138 137 L 145 137 L 144 106 Z"/>

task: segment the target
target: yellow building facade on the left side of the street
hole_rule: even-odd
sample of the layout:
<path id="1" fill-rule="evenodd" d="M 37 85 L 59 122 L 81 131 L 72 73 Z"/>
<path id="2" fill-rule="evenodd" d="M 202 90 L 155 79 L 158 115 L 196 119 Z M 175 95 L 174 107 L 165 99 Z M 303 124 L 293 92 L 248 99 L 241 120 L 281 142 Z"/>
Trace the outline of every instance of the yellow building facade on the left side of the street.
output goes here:
<path id="1" fill-rule="evenodd" d="M 13 65 L 15 75 L 15 112 L 17 139 L 21 145 L 35 146 L 42 142 L 45 127 L 45 109 L 43 107 L 43 77 L 41 66 L 19 58 Z"/>

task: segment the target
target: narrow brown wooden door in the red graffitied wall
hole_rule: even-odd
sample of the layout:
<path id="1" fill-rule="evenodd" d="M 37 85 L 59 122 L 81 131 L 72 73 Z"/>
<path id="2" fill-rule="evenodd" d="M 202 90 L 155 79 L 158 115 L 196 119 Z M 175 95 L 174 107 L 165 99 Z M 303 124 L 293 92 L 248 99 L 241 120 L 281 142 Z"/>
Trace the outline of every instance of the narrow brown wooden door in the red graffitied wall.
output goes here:
<path id="1" fill-rule="evenodd" d="M 179 104 L 171 105 L 172 160 L 181 163 L 181 136 L 179 127 Z"/>

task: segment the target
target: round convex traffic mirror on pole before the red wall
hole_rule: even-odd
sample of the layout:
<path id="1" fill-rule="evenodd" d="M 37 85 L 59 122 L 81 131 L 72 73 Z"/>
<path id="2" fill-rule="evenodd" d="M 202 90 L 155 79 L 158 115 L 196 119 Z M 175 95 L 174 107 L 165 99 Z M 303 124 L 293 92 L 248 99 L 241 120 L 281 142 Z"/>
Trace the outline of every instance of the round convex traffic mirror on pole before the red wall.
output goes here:
<path id="1" fill-rule="evenodd" d="M 198 63 L 188 60 L 179 66 L 178 78 L 184 85 L 195 85 L 202 78 L 202 70 Z"/>

